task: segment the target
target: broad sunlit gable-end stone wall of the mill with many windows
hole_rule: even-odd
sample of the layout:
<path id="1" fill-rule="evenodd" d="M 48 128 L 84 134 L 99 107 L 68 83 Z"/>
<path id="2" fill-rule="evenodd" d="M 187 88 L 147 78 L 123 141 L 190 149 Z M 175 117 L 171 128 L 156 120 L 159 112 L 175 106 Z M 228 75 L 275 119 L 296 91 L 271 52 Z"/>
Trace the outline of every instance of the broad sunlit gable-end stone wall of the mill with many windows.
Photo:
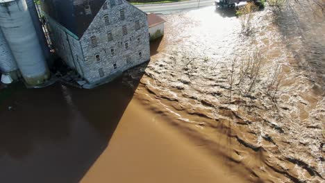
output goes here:
<path id="1" fill-rule="evenodd" d="M 88 30 L 81 37 L 81 46 L 85 58 L 85 77 L 90 82 L 98 82 L 116 72 L 125 71 L 137 64 L 150 60 L 149 31 L 147 14 L 122 0 L 119 4 L 115 0 L 115 6 L 110 6 L 107 1 L 107 8 L 104 5 L 96 15 Z M 125 19 L 120 19 L 120 10 L 124 10 Z M 110 24 L 106 25 L 105 16 L 108 16 Z M 136 30 L 135 21 L 140 22 L 140 29 Z M 126 26 L 127 35 L 123 35 L 122 26 Z M 113 40 L 108 40 L 108 33 L 112 33 Z M 97 46 L 93 47 L 91 37 L 97 38 Z M 140 37 L 140 43 L 137 38 Z M 128 49 L 125 43 L 128 42 Z M 114 49 L 115 55 L 111 55 Z M 141 52 L 141 57 L 139 55 Z M 96 55 L 100 56 L 97 61 Z M 127 62 L 127 58 L 131 58 Z M 116 64 L 116 69 L 114 68 Z M 100 76 L 99 69 L 102 69 L 104 76 Z"/>

